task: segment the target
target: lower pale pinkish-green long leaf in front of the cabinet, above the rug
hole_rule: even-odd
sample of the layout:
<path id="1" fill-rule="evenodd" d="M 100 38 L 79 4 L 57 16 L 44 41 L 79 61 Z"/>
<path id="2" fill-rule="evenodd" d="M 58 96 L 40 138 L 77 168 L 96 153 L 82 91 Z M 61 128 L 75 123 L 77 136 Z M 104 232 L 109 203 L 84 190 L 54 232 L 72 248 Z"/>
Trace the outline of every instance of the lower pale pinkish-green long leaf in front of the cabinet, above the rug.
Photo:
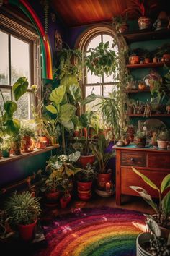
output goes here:
<path id="1" fill-rule="evenodd" d="M 138 186 L 130 186 L 130 189 L 133 189 L 140 195 L 140 197 L 143 197 L 143 199 L 148 203 L 148 205 L 151 205 L 151 208 L 153 208 L 153 210 L 155 210 L 155 212 L 158 213 L 158 207 L 156 203 L 153 202 L 151 195 L 148 195 L 145 189 Z"/>

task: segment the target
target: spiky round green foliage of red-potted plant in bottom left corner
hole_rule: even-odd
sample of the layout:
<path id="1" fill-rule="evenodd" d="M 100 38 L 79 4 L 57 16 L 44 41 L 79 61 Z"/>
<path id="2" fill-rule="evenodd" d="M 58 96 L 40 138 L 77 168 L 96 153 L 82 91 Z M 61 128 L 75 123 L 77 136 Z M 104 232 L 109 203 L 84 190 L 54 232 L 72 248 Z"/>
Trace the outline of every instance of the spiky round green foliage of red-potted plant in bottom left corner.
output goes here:
<path id="1" fill-rule="evenodd" d="M 30 224 L 41 213 L 40 197 L 32 197 L 28 191 L 20 194 L 13 192 L 4 202 L 4 210 L 13 224 Z"/>

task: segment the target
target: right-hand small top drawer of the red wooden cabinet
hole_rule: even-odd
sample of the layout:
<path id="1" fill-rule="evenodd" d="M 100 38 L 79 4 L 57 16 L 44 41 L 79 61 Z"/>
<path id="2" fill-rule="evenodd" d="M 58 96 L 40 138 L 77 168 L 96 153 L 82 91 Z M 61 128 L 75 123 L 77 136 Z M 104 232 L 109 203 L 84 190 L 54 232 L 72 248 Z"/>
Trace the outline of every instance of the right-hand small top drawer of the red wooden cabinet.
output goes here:
<path id="1" fill-rule="evenodd" d="M 148 167 L 170 169 L 169 153 L 148 153 Z"/>

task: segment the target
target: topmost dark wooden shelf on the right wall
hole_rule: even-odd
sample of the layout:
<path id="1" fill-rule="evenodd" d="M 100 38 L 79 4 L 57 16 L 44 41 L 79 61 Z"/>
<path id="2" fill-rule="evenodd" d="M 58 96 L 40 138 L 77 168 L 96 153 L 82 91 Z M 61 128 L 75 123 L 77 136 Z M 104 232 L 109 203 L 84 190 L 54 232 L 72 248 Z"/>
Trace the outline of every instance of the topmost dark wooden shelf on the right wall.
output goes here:
<path id="1" fill-rule="evenodd" d="M 170 29 L 164 28 L 161 30 L 135 30 L 130 33 L 123 34 L 127 43 L 133 43 L 144 40 L 167 39 L 170 37 Z"/>

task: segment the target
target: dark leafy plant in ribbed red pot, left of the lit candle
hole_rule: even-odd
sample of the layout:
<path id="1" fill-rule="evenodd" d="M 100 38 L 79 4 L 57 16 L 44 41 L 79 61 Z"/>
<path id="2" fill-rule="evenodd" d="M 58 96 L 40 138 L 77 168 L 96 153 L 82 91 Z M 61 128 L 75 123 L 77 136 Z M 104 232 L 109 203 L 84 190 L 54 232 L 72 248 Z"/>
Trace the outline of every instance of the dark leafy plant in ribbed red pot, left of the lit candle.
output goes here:
<path id="1" fill-rule="evenodd" d="M 89 200 L 92 196 L 91 188 L 97 172 L 90 163 L 76 174 L 78 196 L 81 200 Z"/>

